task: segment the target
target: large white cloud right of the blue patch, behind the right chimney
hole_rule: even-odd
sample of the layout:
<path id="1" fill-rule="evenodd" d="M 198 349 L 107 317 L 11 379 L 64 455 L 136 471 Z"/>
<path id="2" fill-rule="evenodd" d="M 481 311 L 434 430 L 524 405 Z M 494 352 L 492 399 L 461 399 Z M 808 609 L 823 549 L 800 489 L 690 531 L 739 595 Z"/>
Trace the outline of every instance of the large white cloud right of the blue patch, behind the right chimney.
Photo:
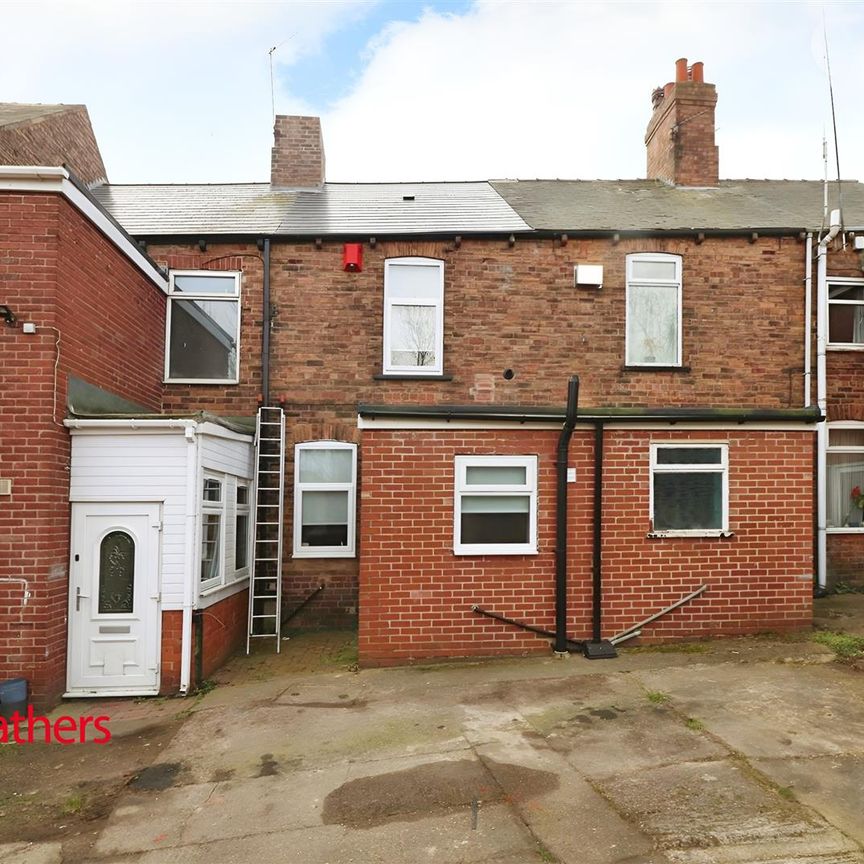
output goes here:
<path id="1" fill-rule="evenodd" d="M 842 18 L 835 85 L 861 71 L 861 7 Z M 379 37 L 326 114 L 328 176 L 642 176 L 651 90 L 685 55 L 718 87 L 723 176 L 819 177 L 827 97 L 814 28 L 803 4 L 485 0 L 463 16 L 428 12 Z M 864 178 L 857 101 L 845 88 L 844 173 Z"/>

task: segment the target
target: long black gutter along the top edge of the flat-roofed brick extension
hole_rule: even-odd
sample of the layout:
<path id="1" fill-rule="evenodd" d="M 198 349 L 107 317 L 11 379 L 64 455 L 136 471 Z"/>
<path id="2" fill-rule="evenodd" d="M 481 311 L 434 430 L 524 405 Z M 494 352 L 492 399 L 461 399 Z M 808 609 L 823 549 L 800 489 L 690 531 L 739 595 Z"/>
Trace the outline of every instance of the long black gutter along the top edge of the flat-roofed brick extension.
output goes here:
<path id="1" fill-rule="evenodd" d="M 478 405 L 371 405 L 357 406 L 361 417 L 425 418 L 430 420 L 504 420 L 514 423 L 563 423 L 560 408 Z M 821 423 L 818 408 L 588 408 L 576 423 Z"/>

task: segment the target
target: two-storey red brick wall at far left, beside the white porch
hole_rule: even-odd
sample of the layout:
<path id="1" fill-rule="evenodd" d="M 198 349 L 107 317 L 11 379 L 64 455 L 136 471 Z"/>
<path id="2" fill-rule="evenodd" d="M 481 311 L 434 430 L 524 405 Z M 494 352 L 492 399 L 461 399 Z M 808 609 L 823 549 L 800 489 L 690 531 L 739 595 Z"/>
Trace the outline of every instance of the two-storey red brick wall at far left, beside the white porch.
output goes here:
<path id="1" fill-rule="evenodd" d="M 164 328 L 164 300 L 57 195 L 0 194 L 0 284 L 0 303 L 19 319 L 0 327 L 0 476 L 13 481 L 12 495 L 0 498 L 0 678 L 28 678 L 46 704 L 66 677 L 67 379 L 158 411 L 161 345 L 153 334 Z M 22 332 L 25 321 L 35 334 Z M 4 579 L 26 580 L 26 606 L 23 586 Z"/>

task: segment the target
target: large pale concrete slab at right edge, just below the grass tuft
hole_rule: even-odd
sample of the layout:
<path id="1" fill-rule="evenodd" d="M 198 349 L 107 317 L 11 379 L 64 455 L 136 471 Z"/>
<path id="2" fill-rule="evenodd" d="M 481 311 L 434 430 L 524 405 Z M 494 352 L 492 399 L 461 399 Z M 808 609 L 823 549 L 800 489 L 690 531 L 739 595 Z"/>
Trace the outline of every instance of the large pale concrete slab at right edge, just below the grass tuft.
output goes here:
<path id="1" fill-rule="evenodd" d="M 836 664 L 700 665 L 639 678 L 747 756 L 864 755 L 864 676 Z"/>

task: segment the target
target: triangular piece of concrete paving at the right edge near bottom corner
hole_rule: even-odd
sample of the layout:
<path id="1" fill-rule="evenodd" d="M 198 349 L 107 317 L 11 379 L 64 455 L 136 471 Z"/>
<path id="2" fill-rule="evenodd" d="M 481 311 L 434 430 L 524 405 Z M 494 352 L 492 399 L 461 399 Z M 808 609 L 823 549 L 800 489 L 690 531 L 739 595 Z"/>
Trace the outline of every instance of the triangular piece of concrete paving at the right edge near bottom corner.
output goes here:
<path id="1" fill-rule="evenodd" d="M 758 759 L 753 765 L 864 846 L 864 757 Z"/>

